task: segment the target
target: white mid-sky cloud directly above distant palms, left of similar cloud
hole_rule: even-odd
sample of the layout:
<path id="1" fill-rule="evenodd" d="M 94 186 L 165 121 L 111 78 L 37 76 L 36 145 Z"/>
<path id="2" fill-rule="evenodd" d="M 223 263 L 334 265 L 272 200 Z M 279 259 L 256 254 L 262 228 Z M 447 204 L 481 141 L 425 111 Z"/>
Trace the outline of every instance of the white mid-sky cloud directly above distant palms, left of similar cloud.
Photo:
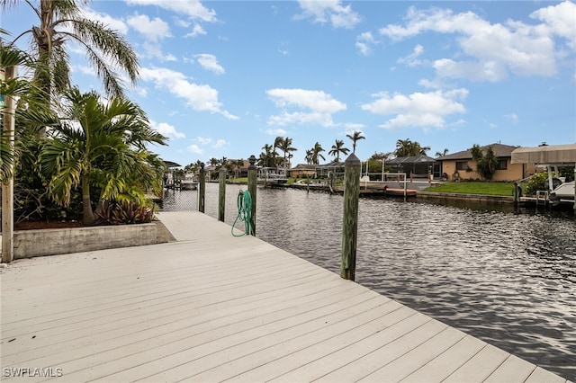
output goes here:
<path id="1" fill-rule="evenodd" d="M 322 91 L 306 89 L 270 89 L 266 91 L 276 106 L 284 111 L 268 119 L 271 125 L 320 124 L 324 127 L 334 125 L 332 114 L 344 111 L 347 106 Z M 306 111 L 285 111 L 287 108 Z"/>

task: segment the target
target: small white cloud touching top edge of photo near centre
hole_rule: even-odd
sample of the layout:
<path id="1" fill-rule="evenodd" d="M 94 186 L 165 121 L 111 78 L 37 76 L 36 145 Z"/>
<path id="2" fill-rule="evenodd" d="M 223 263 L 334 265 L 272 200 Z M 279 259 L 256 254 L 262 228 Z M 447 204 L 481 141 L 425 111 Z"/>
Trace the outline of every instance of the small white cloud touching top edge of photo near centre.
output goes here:
<path id="1" fill-rule="evenodd" d="M 302 14 L 295 19 L 313 18 L 314 22 L 330 22 L 334 28 L 352 29 L 360 22 L 358 13 L 352 10 L 350 4 L 343 6 L 340 0 L 299 0 Z"/>

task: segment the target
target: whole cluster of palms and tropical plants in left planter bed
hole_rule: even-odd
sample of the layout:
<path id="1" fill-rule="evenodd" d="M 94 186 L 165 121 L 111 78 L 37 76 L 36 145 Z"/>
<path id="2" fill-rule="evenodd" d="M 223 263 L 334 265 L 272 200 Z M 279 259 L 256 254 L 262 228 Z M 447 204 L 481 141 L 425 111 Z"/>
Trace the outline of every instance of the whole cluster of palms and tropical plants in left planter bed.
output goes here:
<path id="1" fill-rule="evenodd" d="M 0 30 L 0 68 L 7 74 L 24 69 L 23 76 L 2 81 L 1 89 L 16 101 L 14 111 L 3 108 L 2 120 L 10 124 L 0 138 L 2 181 L 14 177 L 15 220 L 81 218 L 93 225 L 121 202 L 139 209 L 147 191 L 161 191 L 166 170 L 148 145 L 166 145 L 167 138 L 124 95 L 117 70 L 135 84 L 136 53 L 117 31 L 86 19 L 74 0 L 0 0 L 3 12 L 18 5 L 30 6 L 38 24 L 14 39 Z M 29 51 L 15 47 L 25 37 Z M 71 83 L 71 41 L 85 49 L 104 96 Z"/>

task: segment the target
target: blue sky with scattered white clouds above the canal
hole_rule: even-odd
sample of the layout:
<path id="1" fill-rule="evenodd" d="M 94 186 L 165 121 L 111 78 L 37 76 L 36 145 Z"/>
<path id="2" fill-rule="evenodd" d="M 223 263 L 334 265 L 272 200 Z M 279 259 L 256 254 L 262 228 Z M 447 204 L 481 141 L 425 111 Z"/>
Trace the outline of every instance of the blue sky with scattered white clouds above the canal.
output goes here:
<path id="1" fill-rule="evenodd" d="M 365 160 L 399 139 L 429 156 L 495 142 L 576 143 L 573 1 L 95 1 L 85 13 L 139 55 L 130 99 L 186 165 L 258 156 L 293 138 L 293 165 L 355 130 Z M 21 2 L 2 16 L 36 24 Z M 26 48 L 26 41 L 20 41 Z M 102 87 L 70 46 L 73 81 Z"/>

